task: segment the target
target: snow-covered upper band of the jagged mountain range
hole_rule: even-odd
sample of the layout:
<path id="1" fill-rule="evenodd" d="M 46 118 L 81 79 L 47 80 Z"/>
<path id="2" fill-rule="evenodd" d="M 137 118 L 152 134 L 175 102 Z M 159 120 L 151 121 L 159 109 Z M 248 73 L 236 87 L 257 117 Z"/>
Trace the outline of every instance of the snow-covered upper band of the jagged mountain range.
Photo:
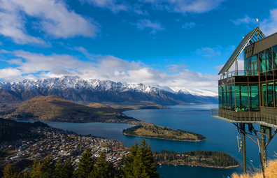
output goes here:
<path id="1" fill-rule="evenodd" d="M 81 92 L 85 90 L 89 91 L 114 91 L 114 92 L 125 92 L 125 91 L 136 91 L 143 93 L 160 93 L 170 92 L 172 94 L 192 94 L 197 96 L 218 96 L 213 91 L 203 91 L 199 89 L 185 89 L 180 87 L 162 87 L 156 85 L 151 87 L 147 84 L 132 84 L 129 82 L 113 82 L 111 80 L 83 80 L 83 78 L 76 76 L 64 75 L 63 77 L 52 77 L 48 79 L 38 79 L 34 81 L 23 80 L 22 82 L 0 82 L 0 89 L 7 91 L 14 91 L 15 93 L 22 92 L 26 89 L 30 89 L 35 93 L 41 91 L 66 91 L 73 90 Z"/>

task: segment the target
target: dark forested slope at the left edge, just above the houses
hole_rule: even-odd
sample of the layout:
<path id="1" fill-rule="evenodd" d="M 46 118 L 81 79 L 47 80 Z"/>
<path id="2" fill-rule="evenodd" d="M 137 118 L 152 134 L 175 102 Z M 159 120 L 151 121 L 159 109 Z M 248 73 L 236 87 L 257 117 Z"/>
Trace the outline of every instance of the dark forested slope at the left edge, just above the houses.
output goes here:
<path id="1" fill-rule="evenodd" d="M 40 134 L 31 132 L 31 127 L 49 127 L 48 124 L 44 124 L 41 121 L 35 121 L 34 123 L 13 121 L 9 119 L 0 118 L 0 142 L 17 140 L 19 138 L 35 137 Z"/>

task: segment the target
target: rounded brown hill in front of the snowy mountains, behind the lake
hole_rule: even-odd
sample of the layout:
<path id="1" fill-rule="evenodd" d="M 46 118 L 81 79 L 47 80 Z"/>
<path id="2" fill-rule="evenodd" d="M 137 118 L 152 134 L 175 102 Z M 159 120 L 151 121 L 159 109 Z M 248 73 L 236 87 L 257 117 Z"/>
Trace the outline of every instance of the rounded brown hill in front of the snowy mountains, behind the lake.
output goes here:
<path id="1" fill-rule="evenodd" d="M 94 104 L 97 105 L 97 104 Z M 92 107 L 79 105 L 58 96 L 36 96 L 24 101 L 11 110 L 0 112 L 0 115 L 15 116 L 17 119 L 82 121 L 87 119 L 118 119 L 125 118 L 112 107 Z"/>

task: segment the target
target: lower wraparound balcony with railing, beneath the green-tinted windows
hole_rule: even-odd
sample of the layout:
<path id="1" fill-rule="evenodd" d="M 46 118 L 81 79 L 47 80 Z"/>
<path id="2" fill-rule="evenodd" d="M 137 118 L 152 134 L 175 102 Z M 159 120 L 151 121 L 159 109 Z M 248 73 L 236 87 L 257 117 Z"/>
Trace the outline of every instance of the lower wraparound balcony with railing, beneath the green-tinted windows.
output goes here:
<path id="1" fill-rule="evenodd" d="M 234 112 L 211 109 L 211 117 L 229 123 L 261 124 L 277 129 L 277 116 L 260 112 Z"/>

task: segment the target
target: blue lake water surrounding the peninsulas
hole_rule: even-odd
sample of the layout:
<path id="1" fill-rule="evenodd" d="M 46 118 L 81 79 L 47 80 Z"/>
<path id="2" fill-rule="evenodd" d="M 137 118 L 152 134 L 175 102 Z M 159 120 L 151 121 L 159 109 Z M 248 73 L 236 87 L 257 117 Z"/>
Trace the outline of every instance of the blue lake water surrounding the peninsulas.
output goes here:
<path id="1" fill-rule="evenodd" d="M 162 149 L 170 151 L 190 151 L 190 150 L 211 150 L 223 151 L 236 159 L 240 165 L 243 162 L 243 155 L 239 154 L 236 143 L 236 136 L 240 136 L 234 124 L 221 121 L 211 117 L 211 108 L 218 105 L 167 105 L 171 109 L 163 110 L 131 110 L 124 112 L 129 117 L 134 117 L 141 121 L 147 121 L 159 126 L 167 126 L 173 129 L 181 129 L 200 133 L 208 140 L 201 142 L 183 142 L 174 140 L 161 140 L 146 138 L 150 142 L 151 148 L 155 151 Z M 129 124 L 106 124 L 106 123 L 65 123 L 44 121 L 46 124 L 80 134 L 92 134 L 104 138 L 118 139 L 126 146 L 131 147 L 136 142 L 141 142 L 141 138 L 122 134 L 122 130 L 129 128 Z M 258 125 L 255 125 L 257 129 Z M 268 158 L 274 158 L 277 139 L 274 138 L 267 147 Z M 246 157 L 248 168 L 260 165 L 259 150 L 249 138 L 246 138 Z M 253 161 L 253 162 L 250 162 Z M 252 165 L 252 164 L 253 165 Z M 243 172 L 243 168 L 218 169 L 190 167 L 185 165 L 157 165 L 157 171 L 162 177 L 227 177 L 232 172 Z"/>

